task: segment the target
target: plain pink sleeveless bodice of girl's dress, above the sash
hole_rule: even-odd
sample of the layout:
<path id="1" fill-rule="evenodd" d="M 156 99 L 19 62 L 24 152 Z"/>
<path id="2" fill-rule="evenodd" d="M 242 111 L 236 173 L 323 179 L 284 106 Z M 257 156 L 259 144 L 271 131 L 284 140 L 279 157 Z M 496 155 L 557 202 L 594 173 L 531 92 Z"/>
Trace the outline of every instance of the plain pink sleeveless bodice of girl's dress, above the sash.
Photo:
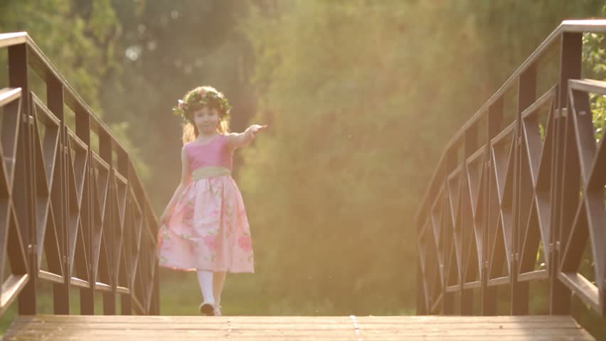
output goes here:
<path id="1" fill-rule="evenodd" d="M 233 151 L 227 146 L 227 136 L 219 135 L 206 144 L 189 142 L 185 145 L 189 171 L 208 166 L 222 166 L 230 171 L 233 167 Z"/>

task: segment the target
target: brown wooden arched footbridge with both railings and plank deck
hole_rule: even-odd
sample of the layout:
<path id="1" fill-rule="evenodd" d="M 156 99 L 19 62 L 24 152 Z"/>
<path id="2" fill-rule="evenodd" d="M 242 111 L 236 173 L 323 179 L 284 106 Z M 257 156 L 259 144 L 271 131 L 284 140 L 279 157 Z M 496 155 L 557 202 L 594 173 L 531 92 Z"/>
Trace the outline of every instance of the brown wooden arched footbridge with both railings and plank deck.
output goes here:
<path id="1" fill-rule="evenodd" d="M 588 114 L 606 83 L 581 79 L 585 32 L 606 21 L 551 33 L 455 134 L 421 202 L 418 314 L 464 316 L 381 317 L 158 316 L 158 222 L 129 153 L 26 33 L 1 34 L 0 314 L 19 314 L 4 339 L 593 340 L 570 317 L 573 293 L 606 312 L 606 146 Z M 528 315 L 535 281 L 549 315 Z"/>

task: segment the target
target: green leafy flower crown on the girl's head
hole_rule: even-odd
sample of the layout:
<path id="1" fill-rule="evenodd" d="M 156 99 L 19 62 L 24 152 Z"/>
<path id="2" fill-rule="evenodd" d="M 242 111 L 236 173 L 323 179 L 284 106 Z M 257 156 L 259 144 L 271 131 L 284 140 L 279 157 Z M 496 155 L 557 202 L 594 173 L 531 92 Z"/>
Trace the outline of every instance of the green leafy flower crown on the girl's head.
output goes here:
<path id="1" fill-rule="evenodd" d="M 219 112 L 219 119 L 229 119 L 231 106 L 223 93 L 217 91 L 214 87 L 204 86 L 196 87 L 191 90 L 183 99 L 179 99 L 179 104 L 173 108 L 173 113 L 181 116 L 184 121 L 192 121 L 191 114 L 201 107 L 214 107 Z"/>

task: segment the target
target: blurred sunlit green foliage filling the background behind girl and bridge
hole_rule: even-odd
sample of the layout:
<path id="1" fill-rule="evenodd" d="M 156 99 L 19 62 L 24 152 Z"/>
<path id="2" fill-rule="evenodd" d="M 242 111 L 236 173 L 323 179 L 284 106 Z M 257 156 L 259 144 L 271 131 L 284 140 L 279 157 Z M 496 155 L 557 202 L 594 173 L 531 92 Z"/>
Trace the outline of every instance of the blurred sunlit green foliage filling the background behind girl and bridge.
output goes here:
<path id="1" fill-rule="evenodd" d="M 235 131 L 270 124 L 238 153 L 257 273 L 228 276 L 226 313 L 407 314 L 413 217 L 446 141 L 560 21 L 604 4 L 4 0 L 0 31 L 28 31 L 117 131 L 157 212 L 179 182 L 170 108 L 187 90 L 225 92 Z M 604 79 L 602 38 L 585 38 L 585 74 Z M 195 276 L 161 276 L 161 312 L 195 313 Z"/>

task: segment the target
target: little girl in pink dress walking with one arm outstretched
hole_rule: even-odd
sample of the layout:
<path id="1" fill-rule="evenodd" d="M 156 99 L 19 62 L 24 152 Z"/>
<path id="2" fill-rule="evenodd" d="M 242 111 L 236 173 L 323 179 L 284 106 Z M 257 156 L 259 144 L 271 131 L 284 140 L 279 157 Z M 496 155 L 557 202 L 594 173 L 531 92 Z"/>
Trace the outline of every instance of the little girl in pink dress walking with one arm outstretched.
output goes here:
<path id="1" fill-rule="evenodd" d="M 230 105 L 213 87 L 196 87 L 173 109 L 186 121 L 181 183 L 160 217 L 159 265 L 197 271 L 200 312 L 220 315 L 225 273 L 252 273 L 252 240 L 240 190 L 231 178 L 235 148 L 267 126 L 229 133 Z"/>

